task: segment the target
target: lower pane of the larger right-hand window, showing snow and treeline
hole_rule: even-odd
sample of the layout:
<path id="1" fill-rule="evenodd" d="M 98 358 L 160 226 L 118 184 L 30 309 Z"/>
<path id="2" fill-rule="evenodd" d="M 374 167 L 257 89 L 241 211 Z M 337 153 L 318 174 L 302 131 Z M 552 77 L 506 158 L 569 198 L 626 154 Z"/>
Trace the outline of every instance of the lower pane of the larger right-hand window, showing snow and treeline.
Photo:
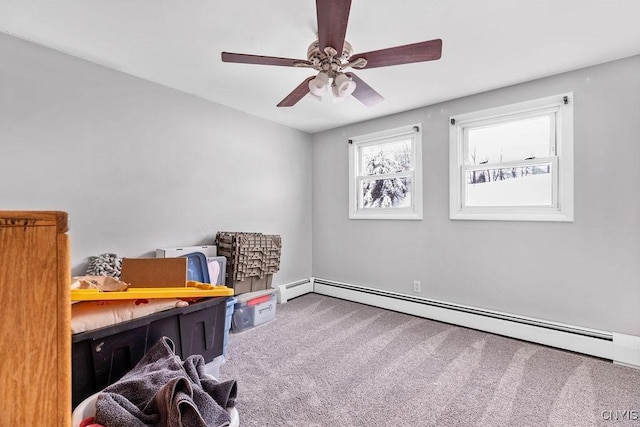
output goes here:
<path id="1" fill-rule="evenodd" d="M 551 163 L 466 172 L 467 206 L 550 206 Z"/>

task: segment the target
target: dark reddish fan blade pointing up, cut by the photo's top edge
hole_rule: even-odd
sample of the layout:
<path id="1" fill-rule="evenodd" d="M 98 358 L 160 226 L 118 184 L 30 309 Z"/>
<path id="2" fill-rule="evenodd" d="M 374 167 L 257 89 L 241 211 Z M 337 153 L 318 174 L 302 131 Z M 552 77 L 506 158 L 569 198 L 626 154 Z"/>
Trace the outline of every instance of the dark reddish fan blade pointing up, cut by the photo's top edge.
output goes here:
<path id="1" fill-rule="evenodd" d="M 320 51 L 332 47 L 338 52 L 336 56 L 342 55 L 350 9 L 351 0 L 316 0 Z"/>

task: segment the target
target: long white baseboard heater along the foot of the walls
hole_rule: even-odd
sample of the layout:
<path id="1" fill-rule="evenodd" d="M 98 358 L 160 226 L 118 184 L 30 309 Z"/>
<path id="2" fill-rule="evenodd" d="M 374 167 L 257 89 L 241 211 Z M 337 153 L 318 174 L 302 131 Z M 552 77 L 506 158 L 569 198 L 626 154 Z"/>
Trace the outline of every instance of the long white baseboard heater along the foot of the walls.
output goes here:
<path id="1" fill-rule="evenodd" d="M 282 285 L 287 299 L 314 292 L 427 319 L 588 354 L 640 367 L 640 337 L 431 300 L 333 280 L 310 278 Z"/>

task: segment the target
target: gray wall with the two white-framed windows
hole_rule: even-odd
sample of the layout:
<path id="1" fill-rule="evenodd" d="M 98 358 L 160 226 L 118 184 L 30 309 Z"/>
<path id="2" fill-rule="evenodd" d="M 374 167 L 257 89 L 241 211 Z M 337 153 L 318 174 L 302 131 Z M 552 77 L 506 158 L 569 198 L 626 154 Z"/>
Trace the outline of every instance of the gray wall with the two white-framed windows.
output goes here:
<path id="1" fill-rule="evenodd" d="M 448 117 L 571 91 L 575 222 L 449 220 Z M 424 220 L 349 220 L 347 138 L 417 122 Z M 313 275 L 640 335 L 639 138 L 640 56 L 315 134 Z"/>

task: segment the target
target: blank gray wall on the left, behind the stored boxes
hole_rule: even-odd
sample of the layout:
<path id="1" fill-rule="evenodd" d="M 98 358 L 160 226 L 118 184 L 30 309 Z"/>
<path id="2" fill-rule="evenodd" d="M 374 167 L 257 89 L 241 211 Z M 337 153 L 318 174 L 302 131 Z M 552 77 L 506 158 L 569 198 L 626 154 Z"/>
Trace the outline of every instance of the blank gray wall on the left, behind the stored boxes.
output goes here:
<path id="1" fill-rule="evenodd" d="M 0 209 L 68 211 L 73 274 L 224 230 L 309 277 L 309 135 L 4 34 L 0 58 Z"/>

